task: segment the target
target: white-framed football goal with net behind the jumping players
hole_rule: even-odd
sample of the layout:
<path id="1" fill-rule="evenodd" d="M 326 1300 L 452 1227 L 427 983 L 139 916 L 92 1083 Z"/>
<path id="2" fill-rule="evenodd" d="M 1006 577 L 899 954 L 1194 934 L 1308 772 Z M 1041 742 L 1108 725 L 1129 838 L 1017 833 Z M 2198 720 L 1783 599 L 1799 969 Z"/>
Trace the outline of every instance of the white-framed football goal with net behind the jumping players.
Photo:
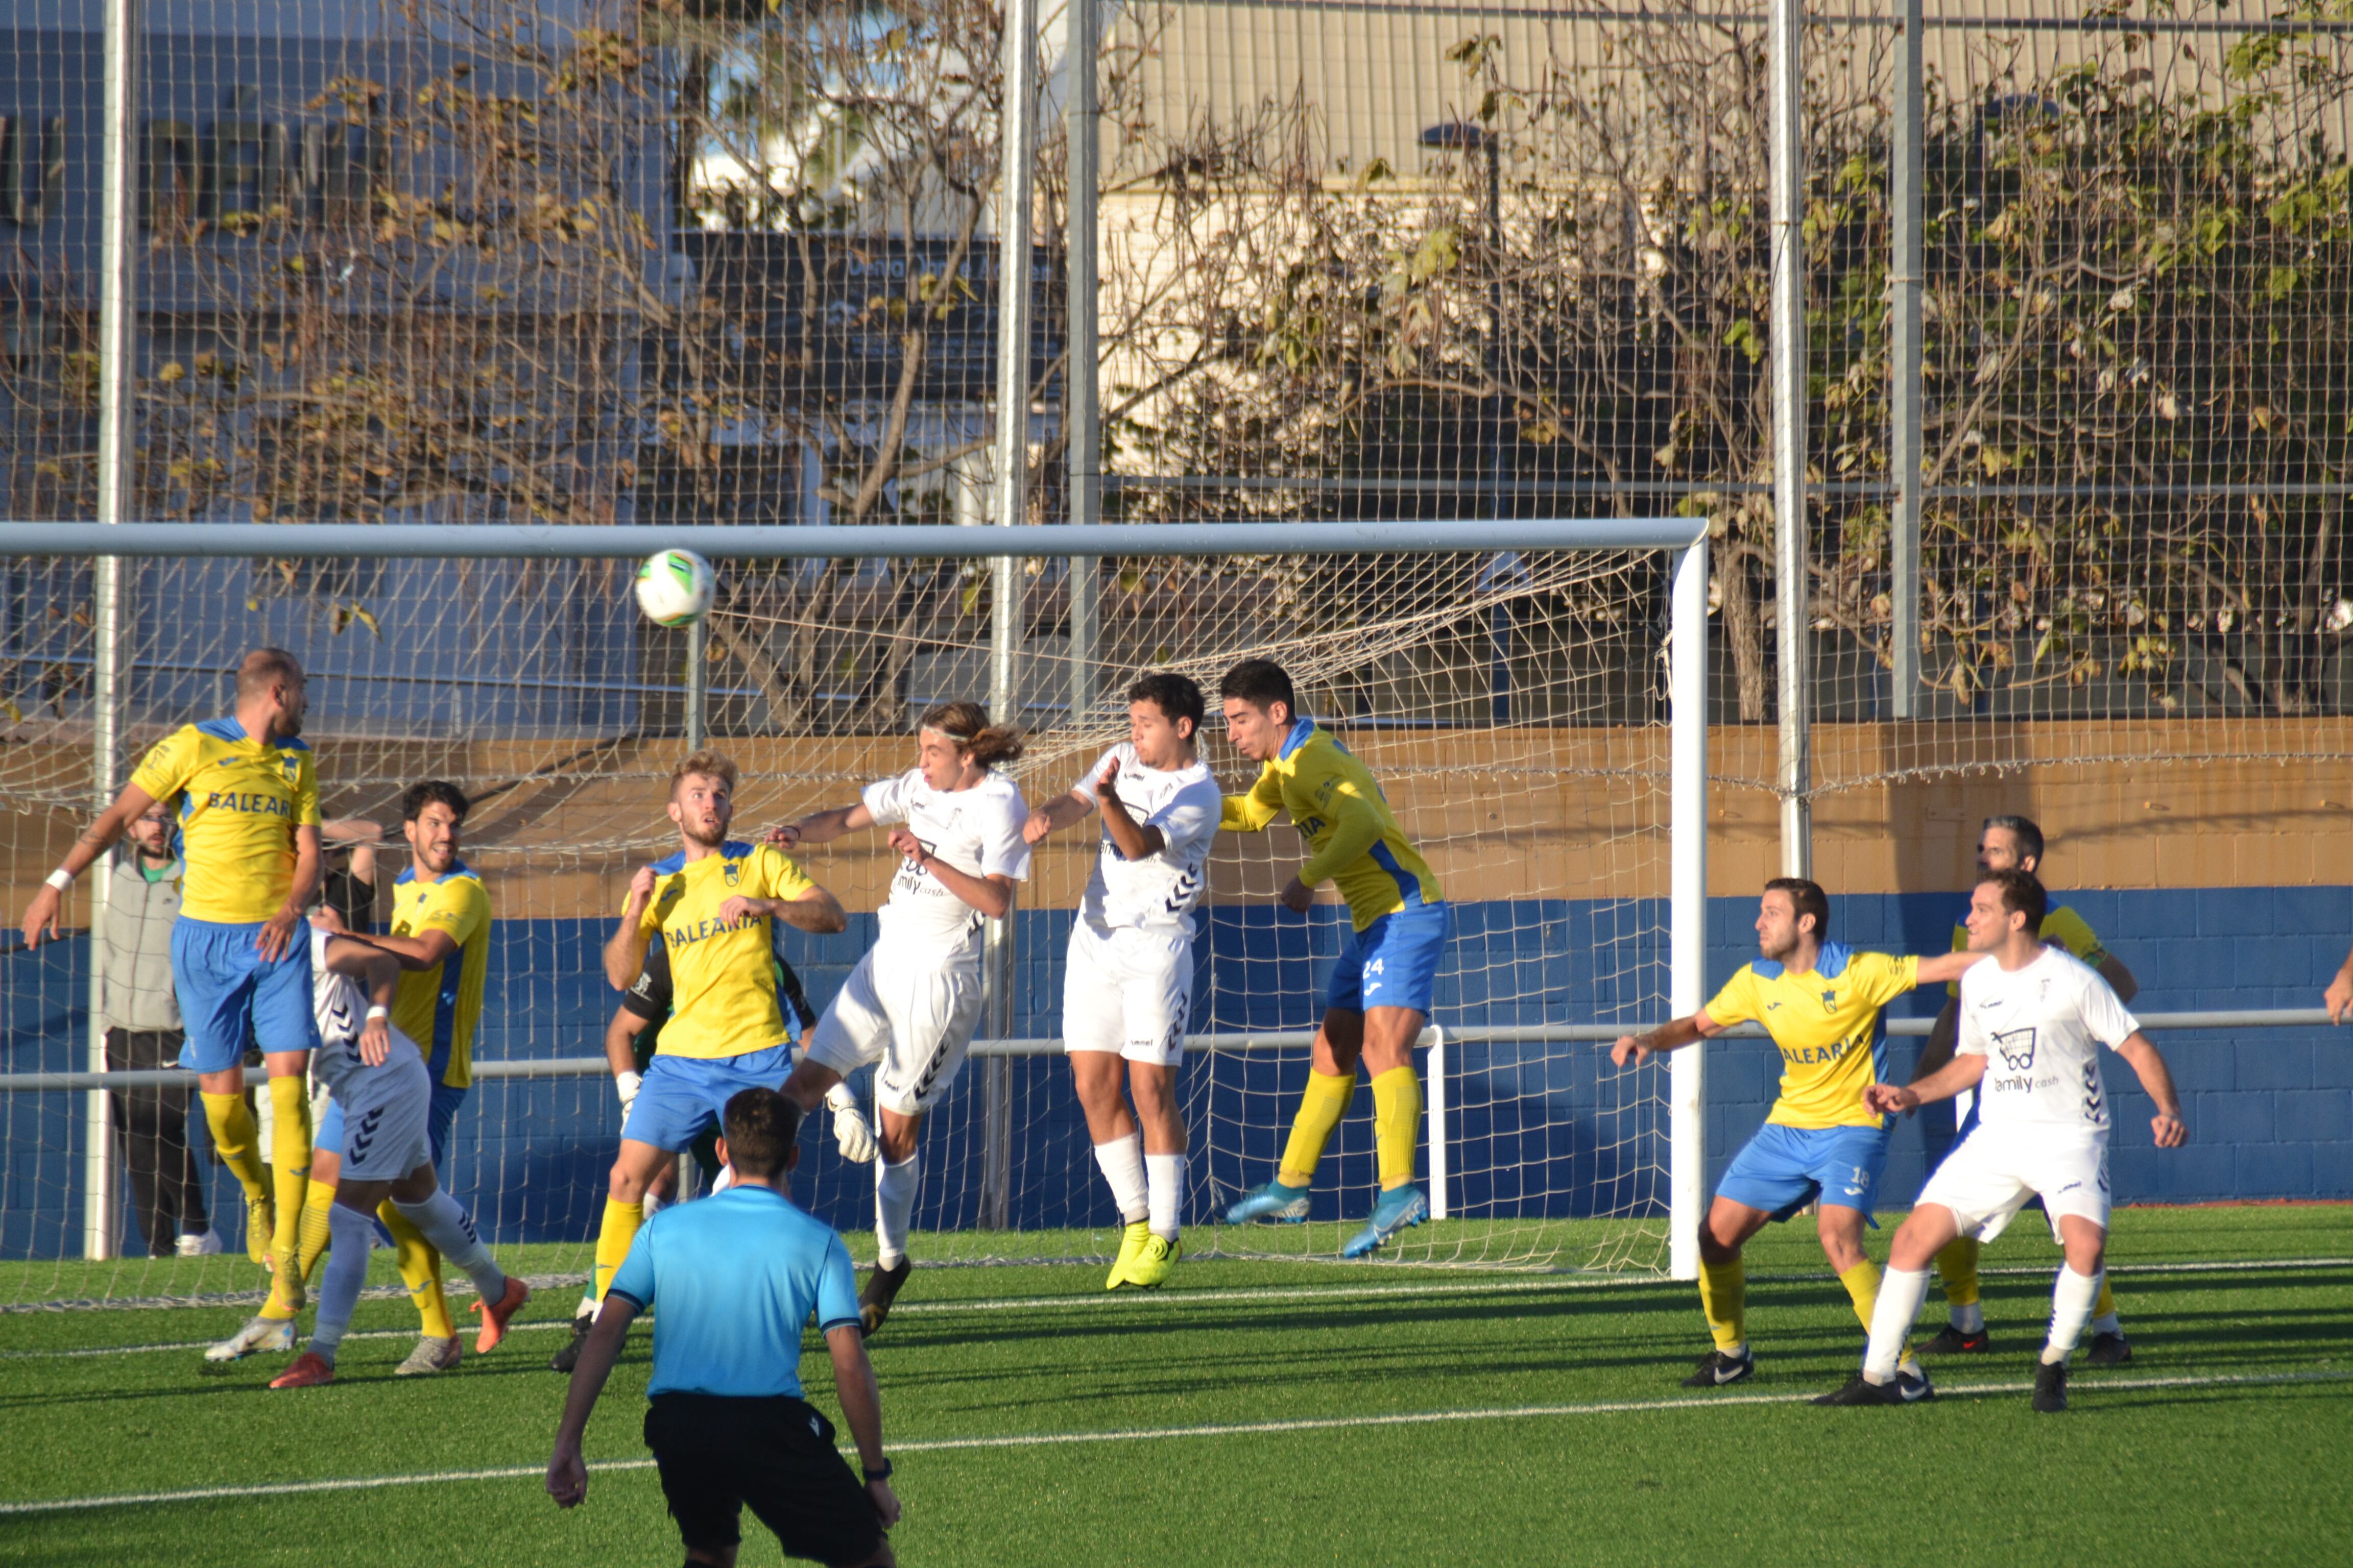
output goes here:
<path id="1" fill-rule="evenodd" d="M 659 548 L 713 557 L 734 581 L 708 623 L 708 637 L 694 639 L 694 675 L 675 686 L 666 686 L 673 677 L 649 675 L 661 668 L 675 672 L 675 654 L 654 658 L 647 651 L 664 635 L 645 628 L 633 611 L 616 609 L 626 607 L 626 574 L 609 567 Z M 1115 677 L 1141 665 L 1181 668 L 1212 693 L 1214 710 L 1219 670 L 1266 654 L 1294 670 L 1306 712 L 1334 724 L 1351 745 L 1369 748 L 1367 762 L 1407 837 L 1426 849 L 1435 844 L 1433 860 L 1445 856 L 1440 882 L 1459 910 L 1459 957 L 1449 957 L 1449 973 L 1466 1009 L 1449 1016 L 1442 994 L 1431 1030 L 1431 1039 L 1445 1044 L 1431 1053 L 1428 1175 L 1445 1194 L 1445 1218 L 1393 1255 L 1492 1267 L 1635 1267 L 1678 1279 L 1697 1274 L 1706 1175 L 1701 1046 L 1675 1053 L 1664 1067 L 1624 1072 L 1607 1065 L 1605 1046 L 1619 1030 L 1654 1025 L 1704 1001 L 1704 520 L 1080 527 L 0 522 L 0 564 L 12 569 L 7 595 L 16 609 L 42 595 L 49 602 L 87 595 L 87 562 L 99 557 L 132 564 L 122 574 L 125 646 L 113 686 L 87 679 L 75 686 L 75 670 L 89 668 L 89 649 L 73 646 L 71 630 L 52 628 L 47 642 L 19 630 L 19 639 L 31 642 L 0 651 L 14 661 L 0 668 L 19 679 L 45 661 L 40 668 L 49 670 L 45 691 L 52 701 L 45 715 L 28 719 L 31 729 L 19 724 L 19 731 L 38 731 L 38 743 L 59 755 L 82 748 L 82 780 L 89 778 L 92 733 L 111 726 L 139 748 L 169 724 L 207 717 L 219 703 L 200 693 L 221 691 L 219 672 L 242 646 L 287 642 L 306 661 L 308 646 L 322 654 L 311 665 L 311 710 L 329 816 L 351 809 L 381 820 L 407 778 L 405 769 L 426 766 L 464 773 L 468 788 L 487 788 L 504 802 L 536 802 L 511 816 L 487 813 L 480 839 L 468 842 L 468 849 L 480 842 L 482 870 L 494 898 L 501 898 L 499 919 L 536 922 L 532 936 L 518 933 L 506 950 L 520 954 L 515 961 L 527 973 L 506 976 L 499 992 L 511 1016 L 501 1016 L 496 1027 L 485 1023 L 478 1046 L 482 1088 L 461 1119 L 478 1126 L 459 1131 L 459 1143 L 471 1150 L 464 1180 L 473 1185 L 461 1197 L 485 1213 L 494 1239 L 541 1237 L 572 1225 L 576 1251 L 586 1255 L 593 1232 L 593 1204 L 586 1199 L 534 1192 L 515 1204 L 506 1201 L 513 1194 L 501 1197 L 499 1182 L 515 1180 L 518 1171 L 544 1180 L 551 1157 L 525 1145 L 551 1124 L 576 1121 L 588 1143 L 609 1140 L 614 1131 L 602 1126 L 609 1095 L 593 1081 L 593 1041 L 579 1037 L 576 1023 L 553 1020 L 572 1001 L 553 1011 L 544 1004 L 551 987 L 572 994 L 565 987 L 574 985 L 579 959 L 560 952 L 558 938 L 539 933 L 539 926 L 609 917 L 605 893 L 616 867 L 645 858 L 666 835 L 659 811 L 614 804 L 621 799 L 614 785 L 652 780 L 652 752 L 661 752 L 659 766 L 666 769 L 680 736 L 706 731 L 708 743 L 744 748 L 762 759 L 748 766 L 748 778 L 753 769 L 772 769 L 762 780 L 765 795 L 746 790 L 746 825 L 784 806 L 798 811 L 831 804 L 833 795 L 847 797 L 859 771 L 887 776 L 906 766 L 901 736 L 922 701 L 951 689 L 953 696 L 976 696 L 993 684 L 991 654 L 1000 644 L 1002 616 L 1019 621 L 1012 642 L 1028 665 L 1066 658 L 1054 651 L 1056 569 L 1068 559 L 1089 559 L 1096 562 L 1101 595 L 1101 623 L 1089 630 L 1104 696 L 1094 710 L 1073 712 L 1064 701 L 1068 677 L 1035 670 L 1024 677 L 1016 722 L 1031 731 L 1033 752 L 1019 764 L 1019 780 L 1033 804 L 1066 790 L 1075 769 L 1125 738 L 1125 679 Z M 369 562 L 381 571 L 362 569 Z M 812 588 L 819 581 L 828 585 L 824 592 Z M 1021 595 L 1012 595 L 1021 597 L 1019 607 L 1002 588 L 1007 581 L 1024 585 Z M 242 583 L 261 585 L 242 602 L 245 614 L 235 604 L 224 609 L 224 595 Z M 906 609 L 918 599 L 927 607 L 920 616 Z M 854 637 L 864 639 L 859 646 L 845 644 L 852 635 L 842 628 L 852 623 L 861 628 Z M 9 628 L 19 625 L 33 623 L 16 616 Z M 635 639 L 633 661 L 591 658 L 598 635 Z M 562 637 L 572 642 L 555 649 Z M 682 635 L 668 637 L 687 646 Z M 784 710 L 779 689 L 788 670 L 779 670 L 793 646 L 821 677 L 809 689 L 812 703 L 835 703 L 833 712 L 816 712 L 814 705 L 793 715 Z M 664 658 L 673 663 L 664 665 Z M 861 665 L 868 658 L 873 675 Z M 882 663 L 896 686 L 882 689 Z M 433 712 L 393 696 L 405 684 L 435 682 L 447 686 L 447 701 Z M 866 693 L 859 698 L 866 708 L 845 715 L 842 691 L 816 691 L 828 682 L 849 696 Z M 675 708 L 694 686 L 711 689 L 708 719 L 699 698 L 685 703 L 685 715 Z M 873 696 L 878 689 L 880 698 Z M 0 696 L 16 701 L 26 693 Z M 664 710 L 664 703 L 673 708 Z M 14 762 L 31 769 L 24 778 L 0 778 L 19 795 L 9 842 L 0 846 L 12 905 L 21 905 L 47 870 L 40 844 L 54 839 L 59 823 L 87 802 L 87 783 L 80 790 L 40 788 L 28 762 L 40 745 Z M 1242 776 L 1233 757 L 1224 757 L 1221 771 L 1228 785 Z M 49 776 L 61 778 L 64 771 L 52 769 Z M 551 780 L 562 788 L 551 788 Z M 565 795 L 567 788 L 572 795 Z M 598 804 L 562 804 L 591 797 Z M 1080 827 L 1066 837 L 1092 835 Z M 1257 1180 L 1271 1173 L 1271 1145 L 1297 1107 L 1322 976 L 1346 936 L 1344 912 L 1329 905 L 1306 922 L 1275 919 L 1271 886 L 1261 886 L 1271 863 L 1257 849 L 1249 853 L 1259 858 L 1242 856 L 1245 865 L 1221 872 L 1228 882 L 1214 889 L 1217 907 L 1205 912 L 1207 1016 L 1198 1013 L 1195 1023 L 1205 1067 L 1186 1074 L 1186 1114 L 1198 1128 L 1198 1175 L 1186 1220 L 1214 1234 L 1214 1251 L 1329 1255 L 1337 1251 L 1337 1244 L 1327 1246 L 1337 1237 L 1337 1215 L 1322 1211 L 1297 1232 L 1219 1225 L 1224 1204 L 1249 1173 Z M 1068 865 L 1078 863 L 1066 860 L 1064 882 Z M 1574 865 L 1574 875 L 1562 872 L 1565 865 Z M 831 884 L 840 870 L 816 875 Z M 849 872 L 849 882 L 859 875 Z M 504 898 L 501 877 L 527 884 L 527 891 Z M 1457 879 L 1464 882 L 1461 896 Z M 934 1117 L 939 1131 L 927 1133 L 946 1147 L 936 1161 L 927 1152 L 932 1175 L 918 1225 L 1021 1227 L 1026 1213 L 1085 1208 L 1099 1185 L 1082 1131 L 1071 1131 L 1068 1105 L 1054 1100 L 1054 1074 L 1047 1072 L 1059 1070 L 1049 1060 L 1059 1046 L 1040 1030 L 1059 1016 L 1061 926 L 1052 917 L 1068 905 L 1054 893 L 1035 893 L 1038 886 L 1033 882 L 1024 896 L 1028 924 L 1021 931 L 1028 936 L 1021 940 L 1031 950 L 1016 957 L 1024 992 L 1019 1025 L 1012 1023 L 1009 994 L 986 1011 L 995 1039 L 976 1046 L 974 1072 Z M 1035 910 L 1028 907 L 1033 893 Z M 871 907 L 871 900 L 852 907 Z M 1214 954 L 1209 926 L 1217 926 Z M 24 957 L 12 961 L 24 964 Z M 831 966 L 840 966 L 845 954 L 828 947 L 807 961 L 812 973 L 824 976 L 812 978 L 824 1004 L 838 985 Z M 52 990 L 42 997 L 47 1013 L 75 1011 L 64 987 Z M 1275 1027 L 1261 1027 L 1261 1020 Z M 508 1053 L 515 1060 L 506 1060 Z M 71 1211 L 73 1222 L 59 1234 L 82 1232 L 82 1248 L 68 1251 L 96 1260 L 106 1251 L 108 1225 L 96 1218 L 89 1173 L 106 1171 L 111 1157 L 78 1147 L 42 1161 L 35 1150 L 21 1147 L 24 1138 L 92 1145 L 94 1131 L 106 1126 L 106 1091 L 94 1086 L 101 1079 L 61 1072 L 78 1063 L 80 1056 L 68 1063 L 54 1051 L 21 1048 L 0 1063 L 9 1182 L 16 1187 L 7 1208 Z M 78 1107 L 80 1117 L 64 1121 L 19 1107 L 42 1093 L 56 1098 L 68 1081 L 89 1095 Z M 134 1084 L 127 1077 L 104 1081 L 113 1088 Z M 1365 1110 L 1362 1103 L 1355 1107 L 1355 1119 L 1332 1145 L 1346 1190 L 1337 1201 L 1344 1204 L 1358 1204 L 1348 1182 L 1360 1185 L 1369 1171 Z M 595 1131 L 586 1131 L 591 1124 Z M 812 1201 L 838 1199 L 838 1208 L 847 1206 L 838 1222 L 854 1227 L 856 1171 L 835 1168 L 831 1157 L 824 1147 L 814 1159 Z M 35 1166 L 47 1175 L 24 1175 Z M 61 1175 L 66 1171 L 80 1173 L 80 1192 L 26 1190 L 28 1180 L 75 1185 Z M 951 1182 L 955 1190 L 944 1190 Z M 1040 1199 L 1047 1190 L 1049 1197 Z M 1056 1194 L 1068 1194 L 1068 1201 Z M 120 1199 L 104 1190 L 101 1197 L 120 1213 Z M 525 1218 L 515 1220 L 518 1213 Z M 1586 1220 L 1602 1225 L 1579 1232 Z M 0 1253 L 38 1255 L 38 1229 L 19 1227 L 19 1234 L 0 1237 Z M 212 1269 L 205 1274 L 212 1279 L 231 1265 L 212 1258 L 202 1267 Z M 153 1272 L 122 1260 L 101 1286 L 82 1286 L 75 1295 L 136 1295 L 146 1291 L 136 1281 Z M 24 1291 L 0 1293 L 21 1298 Z"/>

